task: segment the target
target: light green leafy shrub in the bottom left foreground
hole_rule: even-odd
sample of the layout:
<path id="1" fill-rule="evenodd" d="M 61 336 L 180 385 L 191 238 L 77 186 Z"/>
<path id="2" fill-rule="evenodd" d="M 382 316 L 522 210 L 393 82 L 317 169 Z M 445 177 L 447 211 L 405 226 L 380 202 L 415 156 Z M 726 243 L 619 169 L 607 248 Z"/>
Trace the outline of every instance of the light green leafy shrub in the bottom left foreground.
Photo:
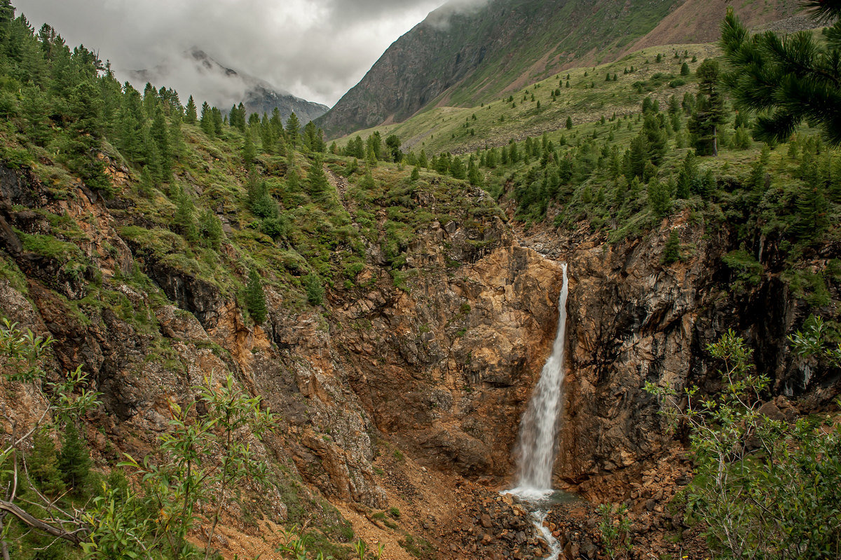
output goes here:
<path id="1" fill-rule="evenodd" d="M 134 552 L 137 557 L 148 550 L 144 542 L 154 543 L 153 549 L 168 556 L 184 557 L 191 549 L 188 535 L 201 502 L 209 506 L 210 512 L 210 528 L 205 533 L 206 559 L 213 552 L 211 543 L 222 508 L 241 481 L 248 478 L 262 485 L 267 483 L 266 462 L 257 460 L 250 440 L 261 440 L 276 429 L 274 415 L 262 408 L 260 398 L 243 393 L 230 375 L 220 383 L 205 378 L 193 391 L 198 394 L 195 401 L 185 406 L 169 403 L 170 429 L 159 437 L 163 460 L 153 462 L 151 457 L 145 457 L 140 462 L 127 456 L 124 462 L 124 467 L 142 477 L 145 491 L 142 499 L 155 512 L 156 523 L 134 515 L 137 505 L 133 496 L 122 507 L 115 507 L 119 499 L 116 489 L 95 504 L 91 518 L 114 522 L 98 524 L 94 533 L 97 540 L 91 542 L 87 552 L 97 551 L 97 542 L 122 539 L 126 551 Z M 204 412 L 196 416 L 199 403 Z M 120 534 L 115 535 L 119 528 Z M 134 535 L 130 542 L 125 542 L 126 533 Z"/>

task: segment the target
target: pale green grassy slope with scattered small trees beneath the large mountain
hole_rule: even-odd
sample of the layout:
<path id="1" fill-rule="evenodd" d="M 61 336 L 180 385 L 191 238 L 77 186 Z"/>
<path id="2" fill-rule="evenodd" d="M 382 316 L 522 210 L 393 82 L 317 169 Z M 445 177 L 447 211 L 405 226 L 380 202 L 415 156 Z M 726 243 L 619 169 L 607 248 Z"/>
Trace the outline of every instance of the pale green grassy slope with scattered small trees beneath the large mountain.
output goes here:
<path id="1" fill-rule="evenodd" d="M 701 61 L 720 54 L 717 45 L 642 50 L 611 64 L 563 71 L 476 107 L 430 108 L 404 123 L 361 130 L 336 143 L 346 145 L 356 135 L 365 138 L 378 132 L 383 138 L 399 136 L 405 150 L 427 154 L 501 147 L 511 138 L 525 140 L 563 130 L 568 118 L 586 124 L 602 116 L 635 114 L 645 97 L 660 103 L 671 95 L 682 99 L 686 92 L 695 92 L 695 69 Z M 681 74 L 684 64 L 688 74 Z"/>

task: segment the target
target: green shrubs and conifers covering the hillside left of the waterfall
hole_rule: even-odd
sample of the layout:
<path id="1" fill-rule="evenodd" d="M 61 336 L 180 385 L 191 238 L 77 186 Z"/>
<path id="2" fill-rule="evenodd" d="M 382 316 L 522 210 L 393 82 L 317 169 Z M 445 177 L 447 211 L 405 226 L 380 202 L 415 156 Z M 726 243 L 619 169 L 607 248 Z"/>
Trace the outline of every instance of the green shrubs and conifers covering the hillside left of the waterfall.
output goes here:
<path id="1" fill-rule="evenodd" d="M 75 320 L 88 325 L 108 310 L 133 325 L 139 335 L 150 337 L 147 362 L 182 368 L 157 325 L 154 309 L 169 302 L 149 276 L 151 268 L 203 283 L 220 297 L 239 302 L 253 326 L 267 320 L 269 313 L 313 309 L 326 315 L 320 306 L 334 288 L 361 293 L 366 284 L 357 284 L 357 276 L 366 266 L 366 244 L 382 248 L 390 281 L 410 290 L 418 271 L 406 266 L 405 251 L 427 225 L 455 220 L 478 226 L 482 219 L 501 216 L 495 203 L 477 196 L 467 182 L 427 172 L 413 178 L 409 167 L 378 161 L 367 165 L 325 151 L 320 130 L 311 123 L 301 126 L 294 116 L 283 123 L 276 113 L 246 116 L 236 107 L 223 116 L 219 108 L 193 98 L 182 103 L 167 87 L 147 84 L 138 92 L 129 83 L 120 84 L 92 50 L 71 49 L 46 24 L 36 32 L 23 15 L 14 17 L 8 2 L 0 3 L 0 164 L 25 177 L 31 173 L 37 182 L 31 185 L 34 192 L 56 209 L 56 213 L 34 209 L 39 233 L 15 229 L 13 236 L 23 254 L 43 259 L 56 270 L 45 283 Z M 340 179 L 346 181 L 346 192 L 336 189 Z M 135 257 L 137 265 L 130 271 L 118 268 L 105 273 L 96 266 L 98 259 L 116 256 L 118 249 L 106 244 L 105 255 L 91 249 L 108 232 L 98 230 L 102 222 L 93 214 L 72 214 L 71 209 L 82 202 L 77 198 L 79 188 L 88 198 L 108 205 L 116 234 Z M 421 207 L 418 201 L 427 198 L 436 200 L 434 209 Z M 381 219 L 379 213 L 386 209 Z M 3 235 L 4 243 L 13 244 L 6 230 Z M 480 238 L 475 242 L 481 243 Z M 458 267 L 457 261 L 452 262 Z M 13 252 L 0 256 L 0 279 L 28 293 Z M 130 300 L 120 291 L 122 286 L 148 298 Z M 282 309 L 269 309 L 269 287 L 283 298 Z M 2 347 L 8 350 L 0 363 L 4 373 L 8 360 L 15 364 L 34 360 L 26 367 L 35 372 L 34 377 L 4 375 L 4 379 L 42 383 L 47 373 L 28 350 L 33 341 L 8 324 L 2 335 Z M 37 344 L 49 346 L 45 341 Z M 225 357 L 224 349 L 214 345 L 213 350 Z M 87 378 L 81 372 L 77 375 L 82 377 L 51 388 L 45 399 L 70 398 L 74 390 L 87 387 Z M 89 404 L 96 404 L 97 395 L 90 396 Z M 210 402 L 206 405 L 214 409 Z M 243 404 L 246 409 L 254 405 Z M 46 423 L 40 430 L 56 434 L 78 421 L 58 415 L 62 410 L 53 409 L 55 424 Z M 82 412 L 78 409 L 75 418 Z M 265 419 L 257 423 L 265 430 Z M 174 433 L 174 441 L 161 444 L 161 449 L 171 452 L 172 462 L 156 466 L 129 462 L 118 468 L 120 459 L 114 455 L 107 465 L 88 462 L 77 468 L 62 462 L 62 453 L 73 446 L 83 449 L 87 441 L 74 440 L 56 451 L 50 440 L 56 436 L 36 441 L 34 451 L 21 442 L 4 447 L 0 505 L 20 507 L 48 521 L 50 515 L 61 518 L 65 508 L 78 507 L 84 514 L 63 526 L 77 527 L 77 533 L 51 536 L 9 515 L 4 521 L 4 546 L 20 558 L 112 557 L 105 547 L 143 557 L 196 557 L 196 548 L 184 536 L 197 520 L 179 511 L 177 526 L 161 524 L 157 511 L 181 503 L 184 511 L 191 511 L 197 501 L 216 499 L 202 492 L 211 488 L 215 492 L 218 486 L 208 485 L 200 492 L 195 486 L 183 486 L 188 478 L 178 470 L 183 466 L 177 461 L 183 452 L 179 445 L 184 443 L 178 438 L 188 434 L 178 436 L 177 425 Z M 85 453 L 77 455 L 87 457 Z M 244 456 L 231 457 L 240 462 Z M 209 468 L 211 463 L 201 464 Z M 6 484 L 8 473 L 23 478 L 24 466 L 32 478 L 25 475 L 13 492 Z M 102 475 L 103 468 L 113 474 Z M 283 494 L 290 527 L 308 526 L 309 536 L 298 552 L 307 554 L 310 547 L 315 557 L 315 547 L 328 556 L 349 557 L 351 547 L 342 543 L 352 539 L 352 530 L 335 508 L 302 490 L 303 481 L 286 463 L 273 462 L 267 468 L 263 478 L 253 478 L 250 471 L 249 477 Z M 127 485 L 124 473 L 145 476 L 148 485 Z M 74 492 L 62 494 L 66 488 L 62 476 L 84 482 L 71 481 Z M 157 483 L 162 486 L 155 487 Z M 56 501 L 41 503 L 34 489 L 45 497 L 57 497 Z M 161 494 L 161 489 L 166 491 Z M 245 499 L 246 494 L 224 498 Z M 248 495 L 249 508 L 257 511 L 246 523 L 254 523 L 263 506 L 259 499 L 252 503 L 253 496 Z M 151 548 L 140 552 L 145 546 Z M 39 552 L 39 547 L 47 552 Z"/>

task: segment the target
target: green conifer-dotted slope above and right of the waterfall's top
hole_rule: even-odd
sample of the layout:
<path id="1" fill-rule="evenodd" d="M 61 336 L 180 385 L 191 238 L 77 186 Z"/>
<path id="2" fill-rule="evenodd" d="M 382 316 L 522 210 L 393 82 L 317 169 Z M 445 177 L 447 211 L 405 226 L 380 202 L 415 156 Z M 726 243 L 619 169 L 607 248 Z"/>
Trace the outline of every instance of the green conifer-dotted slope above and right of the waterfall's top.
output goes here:
<path id="1" fill-rule="evenodd" d="M 337 141 L 336 152 L 352 153 L 368 133 L 399 137 L 412 147 L 408 165 L 463 178 L 474 168 L 471 182 L 503 206 L 513 201 L 526 228 L 598 232 L 612 243 L 658 235 L 664 219 L 733 227 L 726 262 L 736 286 L 783 273 L 795 293 L 826 294 L 830 272 L 809 272 L 810 261 L 838 238 L 841 155 L 807 125 L 784 143 L 754 141 L 754 119 L 716 81 L 719 152 L 705 156 L 711 146 L 697 124 L 707 96 L 697 70 L 707 60 L 724 67 L 717 45 L 648 49 L 488 105 L 436 108 L 362 131 Z"/>

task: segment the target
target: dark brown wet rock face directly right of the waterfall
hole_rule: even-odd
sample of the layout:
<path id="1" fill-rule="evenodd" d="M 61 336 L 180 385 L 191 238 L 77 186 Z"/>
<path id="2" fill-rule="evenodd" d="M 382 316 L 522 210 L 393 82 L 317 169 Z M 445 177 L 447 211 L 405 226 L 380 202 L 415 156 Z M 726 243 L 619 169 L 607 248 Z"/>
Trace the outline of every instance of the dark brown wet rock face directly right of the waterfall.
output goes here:
<path id="1" fill-rule="evenodd" d="M 831 372 L 803 383 L 803 365 L 792 362 L 785 335 L 808 311 L 779 277 L 731 289 L 721 257 L 737 247 L 726 228 L 706 231 L 684 217 L 668 226 L 616 245 L 547 231 L 522 241 L 569 262 L 568 375 L 554 473 L 556 483 L 585 496 L 626 499 L 643 469 L 674 445 L 645 383 L 717 392 L 717 364 L 706 346 L 728 328 L 754 348 L 756 367 L 772 379 L 772 397 L 800 395 L 819 406 L 838 394 Z M 695 251 L 665 266 L 670 229 Z"/>

